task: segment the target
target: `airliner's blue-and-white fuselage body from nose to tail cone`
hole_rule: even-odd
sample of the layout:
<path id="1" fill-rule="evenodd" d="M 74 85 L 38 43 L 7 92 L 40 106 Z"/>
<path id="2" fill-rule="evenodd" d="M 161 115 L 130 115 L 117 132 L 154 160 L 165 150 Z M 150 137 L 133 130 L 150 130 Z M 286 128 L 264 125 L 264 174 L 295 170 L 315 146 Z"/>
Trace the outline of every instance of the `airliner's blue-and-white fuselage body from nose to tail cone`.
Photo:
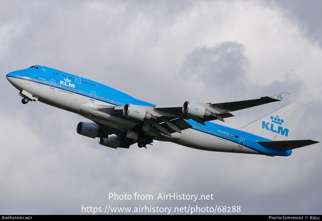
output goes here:
<path id="1" fill-rule="evenodd" d="M 109 128 L 123 131 L 124 134 L 126 131 L 137 128 L 137 125 L 141 125 L 141 128 L 142 125 L 143 127 L 145 125 L 142 120 L 130 119 L 115 112 L 117 109 L 123 109 L 125 104 L 147 107 L 146 110 L 152 116 L 155 115 L 156 117 L 160 117 L 160 119 L 162 117 L 175 116 L 172 113 L 164 114 L 164 111 L 159 111 L 161 109 L 156 109 L 155 104 L 138 100 L 99 82 L 44 66 L 37 65 L 24 70 L 10 72 L 6 75 L 6 78 L 20 91 L 19 95 L 30 101 L 40 101 L 63 110 L 80 114 Z M 114 109 L 108 110 L 108 106 L 113 106 Z M 105 109 L 104 111 L 100 111 L 99 107 L 103 107 L 103 109 L 105 107 L 107 108 L 105 108 L 106 111 Z M 173 119 L 176 119 L 176 117 L 173 117 Z M 278 139 L 268 139 L 268 136 L 259 136 L 259 133 L 257 133 L 259 135 L 255 135 L 244 130 L 225 127 L 209 121 L 204 122 L 205 125 L 202 125 L 196 122 L 195 118 L 185 119 L 192 126 L 191 128 L 181 130 L 181 133 L 179 133 L 180 131 L 172 132 L 171 136 L 166 135 L 162 130 L 158 130 L 157 126 L 159 125 L 154 127 L 153 125 L 155 124 L 152 121 L 147 121 L 151 122 L 151 127 L 145 131 L 147 131 L 147 134 L 152 134 L 153 139 L 170 141 L 194 149 L 270 156 L 289 156 L 292 152 L 291 149 L 272 149 L 255 142 L 275 141 Z M 170 120 L 169 122 L 175 121 Z M 262 133 L 269 133 L 267 127 L 262 127 L 261 122 L 259 123 L 260 125 L 256 130 L 262 131 Z M 139 130 L 141 131 L 141 129 Z M 153 136 L 153 133 L 156 135 Z M 121 134 L 121 132 L 118 134 Z M 280 133 L 277 135 L 282 136 Z"/>

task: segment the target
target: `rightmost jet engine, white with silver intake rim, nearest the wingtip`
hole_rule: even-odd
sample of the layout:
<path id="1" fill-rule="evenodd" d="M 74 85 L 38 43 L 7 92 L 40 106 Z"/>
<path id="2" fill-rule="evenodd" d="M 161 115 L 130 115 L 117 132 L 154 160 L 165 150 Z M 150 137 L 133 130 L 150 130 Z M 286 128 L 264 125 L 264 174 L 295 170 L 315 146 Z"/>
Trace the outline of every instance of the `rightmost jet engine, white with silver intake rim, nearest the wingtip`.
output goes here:
<path id="1" fill-rule="evenodd" d="M 216 118 L 216 114 L 206 109 L 201 104 L 194 102 L 185 101 L 182 106 L 182 112 L 184 114 L 193 116 L 193 117 L 212 117 Z"/>

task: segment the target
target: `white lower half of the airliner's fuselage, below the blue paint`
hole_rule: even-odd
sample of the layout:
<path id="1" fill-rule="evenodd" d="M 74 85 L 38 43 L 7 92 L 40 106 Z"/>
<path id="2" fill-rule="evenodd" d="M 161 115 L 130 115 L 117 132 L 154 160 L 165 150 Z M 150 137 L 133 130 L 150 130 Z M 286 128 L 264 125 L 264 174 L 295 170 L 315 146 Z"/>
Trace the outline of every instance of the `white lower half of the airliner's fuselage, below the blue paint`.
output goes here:
<path id="1" fill-rule="evenodd" d="M 94 107 L 97 107 L 97 105 L 107 104 L 102 101 L 92 101 L 89 97 L 77 94 L 74 91 L 65 90 L 59 87 L 52 89 L 49 85 L 44 85 L 27 79 L 9 77 L 8 80 L 19 91 L 24 90 L 33 94 L 40 102 L 62 110 L 68 110 L 80 114 L 90 120 L 106 124 L 110 127 L 124 131 L 133 128 L 137 124 L 131 120 L 121 119 L 95 110 L 96 108 Z M 240 147 L 236 142 L 194 129 L 183 130 L 182 134 L 175 132 L 171 135 L 171 137 L 158 135 L 154 139 L 169 141 L 186 147 L 208 151 L 260 154 L 259 152 L 245 146 Z"/>

